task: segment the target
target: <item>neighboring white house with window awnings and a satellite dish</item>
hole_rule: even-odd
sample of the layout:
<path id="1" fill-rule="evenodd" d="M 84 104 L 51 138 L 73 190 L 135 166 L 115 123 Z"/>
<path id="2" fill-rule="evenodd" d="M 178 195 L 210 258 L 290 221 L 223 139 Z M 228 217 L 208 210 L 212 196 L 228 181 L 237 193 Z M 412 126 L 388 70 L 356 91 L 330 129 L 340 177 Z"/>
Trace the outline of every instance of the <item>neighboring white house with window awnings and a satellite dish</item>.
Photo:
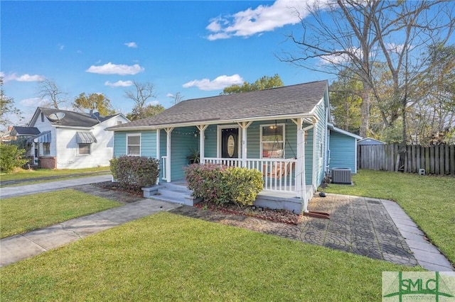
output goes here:
<path id="1" fill-rule="evenodd" d="M 29 123 L 29 128 L 39 133 L 28 138 L 31 155 L 43 168 L 109 166 L 114 153 L 114 134 L 105 129 L 127 122 L 121 113 L 100 116 L 38 107 Z"/>

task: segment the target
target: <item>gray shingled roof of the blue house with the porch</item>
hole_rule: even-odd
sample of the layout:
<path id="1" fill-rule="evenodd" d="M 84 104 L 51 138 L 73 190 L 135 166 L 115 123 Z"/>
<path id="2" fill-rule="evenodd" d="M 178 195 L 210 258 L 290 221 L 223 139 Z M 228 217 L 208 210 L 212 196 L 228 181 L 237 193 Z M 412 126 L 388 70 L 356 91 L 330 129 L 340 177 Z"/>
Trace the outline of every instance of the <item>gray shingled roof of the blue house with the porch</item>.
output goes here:
<path id="1" fill-rule="evenodd" d="M 151 118 L 116 125 L 108 129 L 122 130 L 146 126 L 159 127 L 159 125 L 305 114 L 321 101 L 326 87 L 327 81 L 319 81 L 262 91 L 191 99 L 181 101 Z"/>

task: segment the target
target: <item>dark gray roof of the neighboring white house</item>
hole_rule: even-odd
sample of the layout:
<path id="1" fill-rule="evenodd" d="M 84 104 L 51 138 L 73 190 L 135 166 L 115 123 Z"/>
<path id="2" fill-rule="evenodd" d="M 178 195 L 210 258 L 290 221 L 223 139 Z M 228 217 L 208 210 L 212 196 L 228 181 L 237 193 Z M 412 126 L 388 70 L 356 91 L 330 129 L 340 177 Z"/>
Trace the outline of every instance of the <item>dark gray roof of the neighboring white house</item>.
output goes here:
<path id="1" fill-rule="evenodd" d="M 73 127 L 92 127 L 98 123 L 108 120 L 109 118 L 112 118 L 112 116 L 100 116 L 99 118 L 96 118 L 95 116 L 90 116 L 90 114 L 87 114 L 87 113 L 66 111 L 66 110 L 60 110 L 60 109 L 54 109 L 54 108 L 39 107 L 39 109 L 48 118 L 50 123 L 53 123 L 53 125 L 66 125 L 66 126 L 73 126 Z M 65 113 L 65 117 L 60 119 L 60 121 L 54 121 L 49 118 L 50 114 L 57 113 L 57 112 Z"/>

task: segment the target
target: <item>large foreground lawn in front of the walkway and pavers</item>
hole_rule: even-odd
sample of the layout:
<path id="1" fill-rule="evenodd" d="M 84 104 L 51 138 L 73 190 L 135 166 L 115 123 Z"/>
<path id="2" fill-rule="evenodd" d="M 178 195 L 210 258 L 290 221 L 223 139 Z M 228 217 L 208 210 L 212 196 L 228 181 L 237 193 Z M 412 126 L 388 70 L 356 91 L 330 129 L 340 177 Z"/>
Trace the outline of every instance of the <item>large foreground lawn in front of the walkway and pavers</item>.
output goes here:
<path id="1" fill-rule="evenodd" d="M 1 268 L 4 301 L 380 301 L 402 267 L 161 212 Z"/>

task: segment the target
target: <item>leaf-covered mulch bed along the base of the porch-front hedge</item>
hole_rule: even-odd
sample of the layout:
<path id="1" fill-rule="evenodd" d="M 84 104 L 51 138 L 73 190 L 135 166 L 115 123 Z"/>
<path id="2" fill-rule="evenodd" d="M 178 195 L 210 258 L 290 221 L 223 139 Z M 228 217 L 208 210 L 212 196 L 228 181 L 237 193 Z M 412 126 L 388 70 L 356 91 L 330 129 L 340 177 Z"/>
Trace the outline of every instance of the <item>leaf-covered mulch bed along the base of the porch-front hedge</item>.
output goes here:
<path id="1" fill-rule="evenodd" d="M 289 225 L 298 225 L 301 218 L 301 215 L 294 214 L 286 210 L 275 210 L 272 208 L 262 208 L 259 206 L 238 207 L 230 203 L 223 204 L 222 206 L 216 206 L 208 201 L 201 201 L 200 203 L 196 203 L 195 207 L 206 211 L 250 216 L 259 219 L 270 220 L 276 223 L 287 223 Z"/>

